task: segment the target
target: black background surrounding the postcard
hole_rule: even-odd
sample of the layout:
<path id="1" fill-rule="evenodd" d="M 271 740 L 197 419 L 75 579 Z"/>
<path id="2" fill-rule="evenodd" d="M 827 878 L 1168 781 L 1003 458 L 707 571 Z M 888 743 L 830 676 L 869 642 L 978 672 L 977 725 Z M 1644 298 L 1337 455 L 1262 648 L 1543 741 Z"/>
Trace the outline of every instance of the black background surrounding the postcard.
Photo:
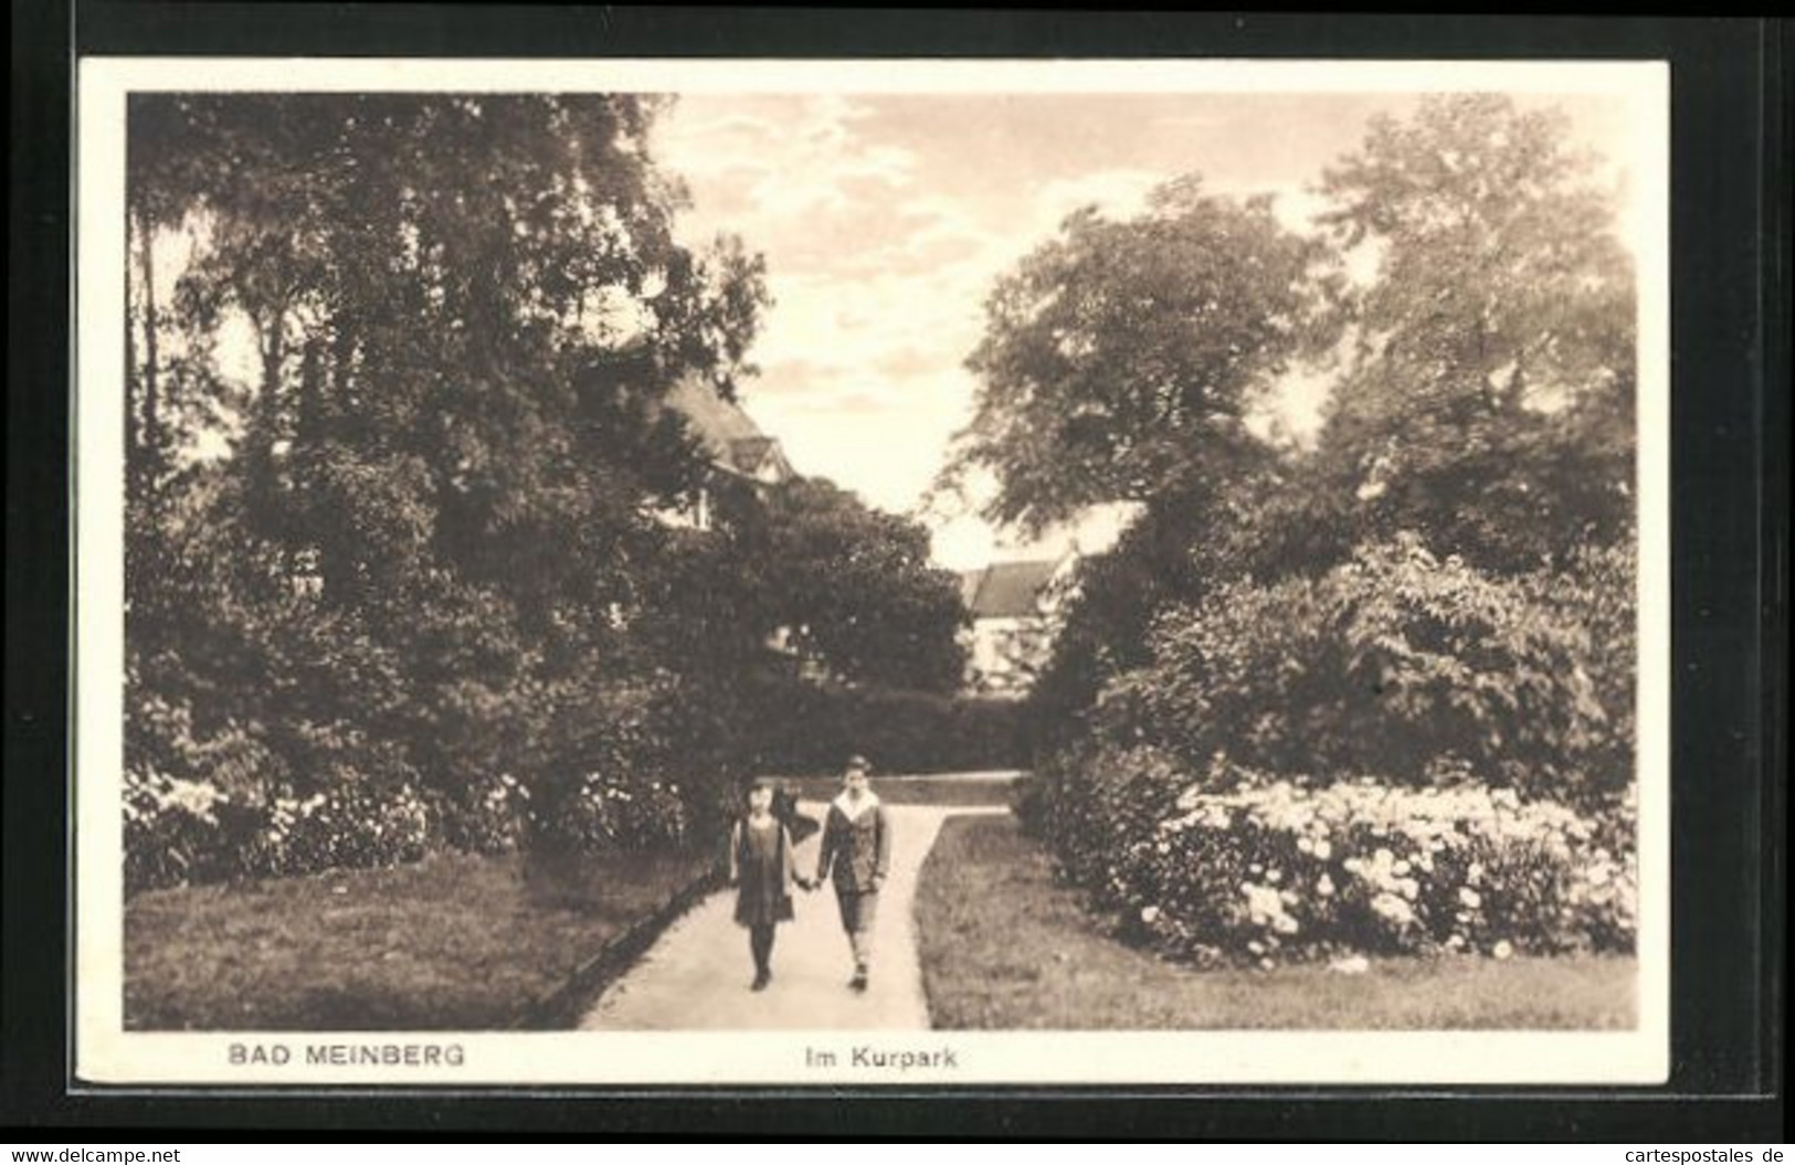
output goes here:
<path id="1" fill-rule="evenodd" d="M 13 5 L 0 1124 L 181 1140 L 1786 1140 L 1790 29 L 1082 11 Z M 1671 63 L 1673 1079 L 1626 1090 L 492 1090 L 70 1095 L 65 876 L 74 54 L 1449 57 Z M 1192 1036 L 1201 1039 L 1201 1036 Z"/>

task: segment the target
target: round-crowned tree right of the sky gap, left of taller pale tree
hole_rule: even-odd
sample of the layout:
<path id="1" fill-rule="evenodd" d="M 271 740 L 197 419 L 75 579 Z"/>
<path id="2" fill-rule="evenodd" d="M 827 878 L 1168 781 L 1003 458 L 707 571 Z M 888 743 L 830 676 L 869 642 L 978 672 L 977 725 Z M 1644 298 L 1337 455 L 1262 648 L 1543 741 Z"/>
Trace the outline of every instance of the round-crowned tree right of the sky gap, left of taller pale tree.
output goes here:
<path id="1" fill-rule="evenodd" d="M 1070 215 L 985 303 L 976 411 L 942 485 L 991 472 L 987 517 L 1038 530 L 1255 465 L 1244 422 L 1325 336 L 1325 262 L 1269 197 L 1195 176 L 1140 217 Z"/>

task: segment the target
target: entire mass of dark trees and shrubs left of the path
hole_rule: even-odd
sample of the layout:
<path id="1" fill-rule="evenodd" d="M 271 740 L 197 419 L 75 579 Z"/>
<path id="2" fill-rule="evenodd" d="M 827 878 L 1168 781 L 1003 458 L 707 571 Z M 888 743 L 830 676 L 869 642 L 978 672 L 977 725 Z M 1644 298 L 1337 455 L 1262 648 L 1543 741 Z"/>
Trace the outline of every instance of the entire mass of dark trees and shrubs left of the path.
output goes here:
<path id="1" fill-rule="evenodd" d="M 752 373 L 766 294 L 740 241 L 675 241 L 659 104 L 133 97 L 133 887 L 698 844 L 775 628 L 959 679 L 921 528 L 718 483 L 666 407 Z M 700 485 L 725 530 L 657 517 Z"/>

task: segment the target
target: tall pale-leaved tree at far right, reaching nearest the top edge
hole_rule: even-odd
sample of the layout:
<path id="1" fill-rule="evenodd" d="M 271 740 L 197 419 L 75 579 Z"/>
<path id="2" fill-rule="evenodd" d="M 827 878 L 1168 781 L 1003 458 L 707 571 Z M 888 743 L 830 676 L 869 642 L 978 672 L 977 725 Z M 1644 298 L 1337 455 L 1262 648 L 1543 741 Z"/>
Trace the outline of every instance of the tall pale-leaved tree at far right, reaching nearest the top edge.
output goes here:
<path id="1" fill-rule="evenodd" d="M 1502 571 L 1623 539 L 1633 506 L 1633 271 L 1614 194 L 1556 111 L 1495 95 L 1375 118 L 1323 217 L 1375 258 L 1309 521 L 1407 528 Z"/>

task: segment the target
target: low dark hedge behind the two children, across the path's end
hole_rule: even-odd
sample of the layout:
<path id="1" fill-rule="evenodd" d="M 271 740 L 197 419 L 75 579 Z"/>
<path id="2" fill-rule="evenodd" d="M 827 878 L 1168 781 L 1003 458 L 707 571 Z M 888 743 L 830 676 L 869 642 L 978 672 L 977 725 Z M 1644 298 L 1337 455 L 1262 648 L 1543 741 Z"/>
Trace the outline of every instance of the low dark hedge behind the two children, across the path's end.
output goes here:
<path id="1" fill-rule="evenodd" d="M 763 772 L 838 772 L 854 752 L 880 772 L 1020 768 L 1029 763 L 1014 700 L 763 679 L 752 695 L 752 756 Z"/>

